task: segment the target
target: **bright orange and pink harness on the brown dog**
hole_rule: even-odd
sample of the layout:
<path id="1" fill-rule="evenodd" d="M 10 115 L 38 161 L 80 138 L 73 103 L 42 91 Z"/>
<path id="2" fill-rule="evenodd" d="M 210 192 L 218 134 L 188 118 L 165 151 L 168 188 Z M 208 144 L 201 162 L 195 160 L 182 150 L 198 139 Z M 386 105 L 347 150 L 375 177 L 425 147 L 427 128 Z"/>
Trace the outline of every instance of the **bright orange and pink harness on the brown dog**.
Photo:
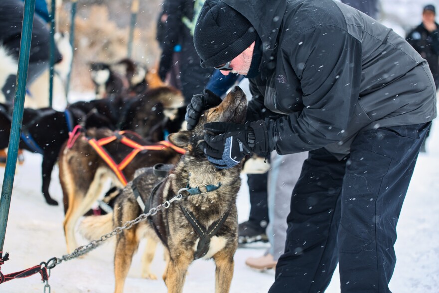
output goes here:
<path id="1" fill-rule="evenodd" d="M 78 138 L 78 136 L 80 135 L 80 129 L 82 129 L 79 125 L 77 125 L 75 127 L 75 129 L 69 133 L 69 140 L 67 141 L 67 147 L 68 148 L 72 148 L 73 144 L 75 143 L 76 139 Z M 109 137 L 104 137 L 101 139 L 96 140 L 95 138 L 89 138 L 89 137 L 85 137 L 84 139 L 86 139 L 88 141 L 88 143 L 93 147 L 93 149 L 98 153 L 98 155 L 105 161 L 105 163 L 107 163 L 108 167 L 110 167 L 110 169 L 114 172 L 114 174 L 116 174 L 117 178 L 119 179 L 119 181 L 125 186 L 127 185 L 128 181 L 125 177 L 125 175 L 123 174 L 123 169 L 128 166 L 128 164 L 131 163 L 131 161 L 136 157 L 136 155 L 144 150 L 163 150 L 166 148 L 171 148 L 174 151 L 176 151 L 179 154 L 184 154 L 186 151 L 183 148 L 179 148 L 175 145 L 173 145 L 172 143 L 170 143 L 169 141 L 160 141 L 155 145 L 141 145 L 137 142 L 135 142 L 132 139 L 129 139 L 128 137 L 126 137 L 124 134 L 125 133 L 130 133 L 133 134 L 139 138 L 140 135 L 138 135 L 135 132 L 132 131 L 128 131 L 128 130 L 124 130 L 124 131 L 118 131 L 118 132 L 114 132 L 114 135 L 109 136 Z M 103 146 L 105 146 L 106 144 L 109 144 L 110 142 L 113 142 L 115 140 L 118 140 L 119 142 L 123 143 L 124 145 L 131 147 L 133 150 L 119 163 L 117 164 L 113 157 L 103 148 Z"/>

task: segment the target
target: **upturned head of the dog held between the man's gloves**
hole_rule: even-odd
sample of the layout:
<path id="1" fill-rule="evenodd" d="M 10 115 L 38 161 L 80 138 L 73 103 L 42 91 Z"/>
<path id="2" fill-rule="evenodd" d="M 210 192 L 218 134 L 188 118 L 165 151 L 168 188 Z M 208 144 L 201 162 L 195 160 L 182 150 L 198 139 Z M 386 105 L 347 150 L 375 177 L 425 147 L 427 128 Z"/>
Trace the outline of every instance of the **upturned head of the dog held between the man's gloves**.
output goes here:
<path id="1" fill-rule="evenodd" d="M 217 107 L 205 110 L 192 131 L 179 131 L 168 136 L 171 143 L 186 149 L 188 153 L 201 152 L 198 143 L 203 140 L 205 123 L 231 122 L 242 124 L 247 112 L 247 98 L 239 86 L 235 86 Z"/>

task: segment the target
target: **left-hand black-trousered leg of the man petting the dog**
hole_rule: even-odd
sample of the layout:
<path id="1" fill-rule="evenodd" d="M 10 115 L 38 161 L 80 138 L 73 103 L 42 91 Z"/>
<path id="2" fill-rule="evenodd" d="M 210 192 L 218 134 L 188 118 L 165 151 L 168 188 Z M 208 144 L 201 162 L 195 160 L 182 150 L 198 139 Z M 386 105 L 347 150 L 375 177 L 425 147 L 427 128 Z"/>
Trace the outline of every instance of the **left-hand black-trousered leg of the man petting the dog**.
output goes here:
<path id="1" fill-rule="evenodd" d="M 340 194 L 346 159 L 309 152 L 293 189 L 285 253 L 269 293 L 323 292 L 337 265 Z"/>

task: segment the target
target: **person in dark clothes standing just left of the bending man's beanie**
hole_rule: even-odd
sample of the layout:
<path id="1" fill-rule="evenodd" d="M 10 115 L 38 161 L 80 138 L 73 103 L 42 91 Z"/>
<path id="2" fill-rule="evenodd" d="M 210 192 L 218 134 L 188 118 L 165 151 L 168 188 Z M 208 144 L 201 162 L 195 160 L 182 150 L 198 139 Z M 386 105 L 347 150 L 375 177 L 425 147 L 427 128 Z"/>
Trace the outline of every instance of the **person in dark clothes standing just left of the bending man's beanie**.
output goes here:
<path id="1" fill-rule="evenodd" d="M 160 43 L 162 54 L 160 57 L 159 76 L 165 80 L 166 74 L 173 66 L 179 66 L 180 85 L 185 103 L 188 104 L 194 94 L 198 94 L 209 81 L 213 69 L 202 68 L 200 59 L 194 48 L 193 25 L 194 5 L 199 1 L 193 0 L 166 0 L 164 1 L 164 13 L 167 15 L 166 22 L 161 28 L 163 39 Z M 199 11 L 200 9 L 198 9 Z M 176 64 L 173 60 L 174 48 L 180 44 L 179 60 Z"/>

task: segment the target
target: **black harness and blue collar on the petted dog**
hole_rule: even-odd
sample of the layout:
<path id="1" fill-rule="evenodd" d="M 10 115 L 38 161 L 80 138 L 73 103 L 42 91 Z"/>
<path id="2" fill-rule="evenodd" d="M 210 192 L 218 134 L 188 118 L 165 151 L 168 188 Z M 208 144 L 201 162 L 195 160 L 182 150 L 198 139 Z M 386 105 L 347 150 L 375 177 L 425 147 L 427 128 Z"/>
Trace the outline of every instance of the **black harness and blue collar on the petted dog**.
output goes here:
<path id="1" fill-rule="evenodd" d="M 157 176 L 164 177 L 164 173 L 163 173 L 164 170 L 168 170 L 170 168 L 168 167 L 166 169 L 166 168 L 163 168 L 162 166 L 158 166 L 158 165 L 163 165 L 163 164 L 156 164 L 154 166 L 153 172 Z M 169 165 L 164 165 L 164 166 L 169 166 Z M 149 199 L 145 203 L 143 202 L 140 190 L 137 188 L 137 182 L 138 182 L 138 180 L 140 180 L 140 178 L 141 178 L 141 176 L 138 176 L 133 180 L 132 190 L 133 190 L 134 196 L 136 197 L 136 201 L 139 204 L 140 208 L 142 209 L 143 213 L 147 213 L 147 212 L 149 212 L 151 206 L 153 205 L 152 203 L 153 203 L 154 196 L 155 196 L 157 190 L 159 190 L 160 186 L 165 182 L 166 178 L 163 179 L 162 181 L 160 181 L 152 189 L 151 194 L 149 196 Z M 191 188 L 191 187 L 189 187 L 189 183 L 188 183 L 186 188 L 183 190 L 189 193 L 188 196 L 204 195 L 210 191 L 217 190 L 220 186 L 221 186 L 221 183 L 219 183 L 218 185 L 213 185 L 213 184 L 199 185 L 197 187 Z M 204 191 L 200 190 L 200 187 L 204 187 L 205 190 Z M 188 196 L 184 196 L 183 198 L 187 198 Z M 207 229 L 205 229 L 203 227 L 203 225 L 201 225 L 200 222 L 197 221 L 197 219 L 193 213 L 191 213 L 188 209 L 183 207 L 180 202 L 179 202 L 179 204 L 180 204 L 180 209 L 182 210 L 186 219 L 191 224 L 192 228 L 194 228 L 194 231 L 198 234 L 198 236 L 200 238 L 200 240 L 198 241 L 198 244 L 197 244 L 197 250 L 194 253 L 194 260 L 202 258 L 208 253 L 209 244 L 210 244 L 212 236 L 215 236 L 215 234 L 217 234 L 219 229 L 221 229 L 222 225 L 224 224 L 225 220 L 227 220 L 228 215 L 230 214 L 230 210 L 227 210 L 227 212 L 224 215 L 222 215 L 222 217 L 219 220 L 214 221 Z M 153 220 L 152 216 L 148 217 L 148 221 L 151 224 L 151 226 L 154 228 L 156 234 L 159 236 L 162 243 L 164 243 L 166 245 L 166 240 L 163 238 L 163 234 L 158 230 L 158 227 L 154 224 L 154 220 Z"/>

